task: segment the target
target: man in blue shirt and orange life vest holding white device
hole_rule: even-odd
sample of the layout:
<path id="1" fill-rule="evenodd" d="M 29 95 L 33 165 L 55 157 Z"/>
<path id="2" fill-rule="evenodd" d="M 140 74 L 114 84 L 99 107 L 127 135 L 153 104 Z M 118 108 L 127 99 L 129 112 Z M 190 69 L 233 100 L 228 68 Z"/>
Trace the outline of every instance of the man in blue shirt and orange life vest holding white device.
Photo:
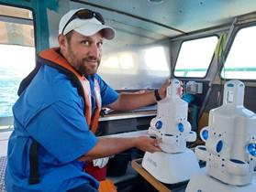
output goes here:
<path id="1" fill-rule="evenodd" d="M 146 106 L 164 98 L 170 84 L 167 80 L 158 91 L 137 94 L 117 94 L 108 87 L 96 71 L 103 39 L 114 36 L 114 29 L 91 10 L 72 10 L 61 17 L 60 48 L 39 53 L 13 107 L 7 191 L 97 191 L 98 182 L 83 172 L 86 162 L 131 147 L 161 151 L 148 136 L 96 138 L 92 133 L 101 105 L 118 111 Z"/>

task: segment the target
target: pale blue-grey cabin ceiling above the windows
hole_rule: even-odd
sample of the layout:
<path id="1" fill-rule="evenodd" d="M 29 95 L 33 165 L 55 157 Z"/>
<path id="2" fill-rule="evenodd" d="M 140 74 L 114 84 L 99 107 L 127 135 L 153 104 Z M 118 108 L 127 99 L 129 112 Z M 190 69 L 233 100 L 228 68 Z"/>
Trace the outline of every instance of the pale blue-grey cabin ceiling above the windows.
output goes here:
<path id="1" fill-rule="evenodd" d="M 80 2 L 102 8 L 103 15 L 114 27 L 126 30 L 125 25 L 132 26 L 134 33 L 147 31 L 146 37 L 151 34 L 155 38 L 174 37 L 229 24 L 234 16 L 256 11 L 255 0 L 162 0 L 161 4 L 151 3 L 150 0 Z M 116 11 L 116 14 L 109 10 Z"/>

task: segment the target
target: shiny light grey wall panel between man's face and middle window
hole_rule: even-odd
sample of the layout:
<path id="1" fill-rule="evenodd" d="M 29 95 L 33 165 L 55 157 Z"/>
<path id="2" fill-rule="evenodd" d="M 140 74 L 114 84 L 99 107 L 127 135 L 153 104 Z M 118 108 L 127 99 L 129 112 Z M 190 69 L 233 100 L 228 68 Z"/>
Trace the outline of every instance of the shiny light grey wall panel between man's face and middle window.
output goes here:
<path id="1" fill-rule="evenodd" d="M 116 90 L 159 88 L 171 74 L 169 53 L 167 43 L 106 53 L 99 74 Z M 122 68 L 120 59 L 124 54 L 132 56 L 133 68 Z M 110 63 L 106 62 L 107 59 L 110 59 Z M 118 59 L 117 68 L 107 67 L 113 64 L 111 59 Z"/>

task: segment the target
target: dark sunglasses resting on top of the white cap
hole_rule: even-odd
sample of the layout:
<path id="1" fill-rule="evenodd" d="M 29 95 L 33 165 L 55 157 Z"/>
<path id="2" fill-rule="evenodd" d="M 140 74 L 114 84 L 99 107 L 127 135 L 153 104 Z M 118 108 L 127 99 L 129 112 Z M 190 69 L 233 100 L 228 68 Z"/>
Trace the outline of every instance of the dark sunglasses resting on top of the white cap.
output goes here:
<path id="1" fill-rule="evenodd" d="M 72 20 L 74 20 L 75 18 L 80 18 L 80 19 L 90 19 L 95 17 L 102 25 L 105 24 L 104 18 L 103 16 L 101 16 L 100 13 L 95 12 L 95 11 L 91 11 L 89 9 L 82 9 L 77 11 L 76 13 L 74 13 L 72 15 L 72 17 L 68 20 L 68 22 L 66 23 L 66 25 L 63 27 L 61 34 L 64 33 L 65 28 L 69 25 L 69 23 L 72 22 Z"/>

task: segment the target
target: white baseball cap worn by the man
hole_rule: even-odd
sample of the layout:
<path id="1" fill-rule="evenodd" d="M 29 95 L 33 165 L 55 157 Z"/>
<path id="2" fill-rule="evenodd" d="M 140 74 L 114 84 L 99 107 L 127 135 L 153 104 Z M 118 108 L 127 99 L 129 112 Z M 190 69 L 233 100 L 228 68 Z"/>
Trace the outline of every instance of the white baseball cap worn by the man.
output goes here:
<path id="1" fill-rule="evenodd" d="M 66 35 L 72 30 L 83 36 L 93 36 L 102 31 L 106 39 L 115 37 L 115 29 L 106 26 L 99 13 L 84 8 L 70 10 L 61 17 L 59 35 Z"/>

